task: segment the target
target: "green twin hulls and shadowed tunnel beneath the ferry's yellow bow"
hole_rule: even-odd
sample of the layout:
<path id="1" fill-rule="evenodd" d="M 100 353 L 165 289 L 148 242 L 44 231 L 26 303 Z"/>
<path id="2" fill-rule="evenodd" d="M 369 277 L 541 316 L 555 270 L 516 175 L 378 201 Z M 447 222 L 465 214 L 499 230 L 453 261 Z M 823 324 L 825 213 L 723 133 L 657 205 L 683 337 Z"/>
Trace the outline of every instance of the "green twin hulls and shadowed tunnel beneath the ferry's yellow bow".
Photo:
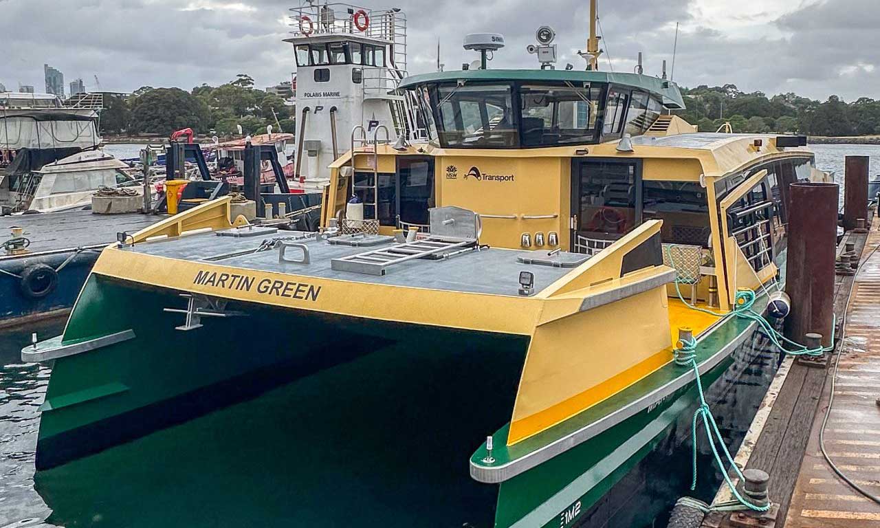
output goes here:
<path id="1" fill-rule="evenodd" d="M 313 506 L 332 495 L 356 507 L 364 526 L 574 526 L 695 398 L 684 387 L 500 486 L 483 484 L 468 476 L 466 462 L 488 432 L 505 434 L 527 338 L 257 305 L 230 305 L 248 315 L 203 318 L 202 328 L 181 332 L 174 326 L 183 315 L 163 309 L 183 303 L 172 291 L 92 275 L 64 340 L 128 329 L 136 339 L 55 360 L 40 469 L 289 384 L 308 417 L 302 433 L 311 435 L 293 443 L 312 462 L 291 475 L 302 485 L 290 504 L 297 518 L 333 521 L 333 509 Z M 734 321 L 716 345 L 743 332 Z M 730 363 L 719 363 L 706 382 Z M 340 395 L 350 401 L 344 410 Z M 286 419 L 278 416 L 290 428 Z M 53 506 L 52 490 L 40 491 Z M 339 515 L 341 522 L 349 513 Z"/>

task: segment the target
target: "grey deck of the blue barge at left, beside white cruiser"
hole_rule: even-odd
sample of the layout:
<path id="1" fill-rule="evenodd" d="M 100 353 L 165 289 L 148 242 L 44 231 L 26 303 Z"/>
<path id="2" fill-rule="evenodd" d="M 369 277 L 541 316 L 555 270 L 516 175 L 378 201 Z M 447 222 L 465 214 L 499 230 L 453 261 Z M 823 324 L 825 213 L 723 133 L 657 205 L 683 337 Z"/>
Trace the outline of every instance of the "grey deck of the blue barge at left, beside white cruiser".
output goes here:
<path id="1" fill-rule="evenodd" d="M 25 228 L 25 237 L 31 241 L 27 249 L 33 253 L 98 246 L 113 242 L 119 231 L 139 231 L 161 219 L 162 216 L 138 213 L 95 215 L 82 210 L 0 216 L 0 241 L 11 235 L 11 227 L 18 226 Z"/>

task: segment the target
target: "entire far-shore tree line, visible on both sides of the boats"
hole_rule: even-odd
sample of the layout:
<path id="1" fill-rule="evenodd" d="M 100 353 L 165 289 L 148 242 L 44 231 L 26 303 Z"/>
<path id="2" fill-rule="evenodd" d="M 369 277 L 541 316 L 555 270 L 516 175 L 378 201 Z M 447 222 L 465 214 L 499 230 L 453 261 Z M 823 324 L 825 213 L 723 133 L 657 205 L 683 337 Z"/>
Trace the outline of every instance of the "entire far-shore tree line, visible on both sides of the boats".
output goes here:
<path id="1" fill-rule="evenodd" d="M 820 102 L 791 92 L 768 98 L 764 92 L 740 92 L 736 84 L 703 84 L 683 89 L 682 95 L 686 110 L 676 114 L 700 132 L 714 132 L 730 122 L 734 132 L 745 133 L 880 135 L 880 101 L 866 97 L 850 103 L 836 95 Z M 285 132 L 295 131 L 292 108 L 275 94 L 255 89 L 246 74 L 190 92 L 143 86 L 127 99 L 111 97 L 105 103 L 105 134 L 168 136 L 189 127 L 198 134 L 230 136 L 238 132 L 238 125 L 246 134 L 262 134 L 267 125 L 278 124 Z"/>

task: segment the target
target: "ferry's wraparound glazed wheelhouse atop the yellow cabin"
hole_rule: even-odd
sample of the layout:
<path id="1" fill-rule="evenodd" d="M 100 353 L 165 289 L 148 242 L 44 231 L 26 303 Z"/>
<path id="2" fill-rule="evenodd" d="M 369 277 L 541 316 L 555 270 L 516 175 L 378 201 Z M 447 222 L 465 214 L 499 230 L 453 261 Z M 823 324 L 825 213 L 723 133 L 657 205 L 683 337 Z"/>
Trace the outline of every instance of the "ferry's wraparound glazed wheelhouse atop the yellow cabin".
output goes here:
<path id="1" fill-rule="evenodd" d="M 671 82 L 598 71 L 464 70 L 405 80 L 436 143 L 531 149 L 641 136 L 684 107 Z"/>

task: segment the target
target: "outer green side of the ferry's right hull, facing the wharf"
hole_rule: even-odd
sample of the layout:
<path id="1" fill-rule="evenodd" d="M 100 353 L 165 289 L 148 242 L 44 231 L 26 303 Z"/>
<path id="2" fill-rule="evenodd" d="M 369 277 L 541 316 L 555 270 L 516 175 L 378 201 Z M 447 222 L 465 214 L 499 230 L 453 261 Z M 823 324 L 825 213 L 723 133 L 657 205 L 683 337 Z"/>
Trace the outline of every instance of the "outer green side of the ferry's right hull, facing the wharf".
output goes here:
<path id="1" fill-rule="evenodd" d="M 729 357 L 701 378 L 707 401 L 715 409 L 725 436 L 730 436 L 730 427 L 737 420 L 735 416 L 718 414 L 719 408 L 729 413 L 744 410 L 719 407 L 730 398 L 732 387 L 756 363 L 773 363 L 771 373 L 776 366 L 775 360 L 766 361 L 766 337 L 757 329 L 749 329 L 747 334 Z M 768 383 L 769 375 L 766 379 Z M 758 384 L 752 380 L 749 385 L 743 398 L 748 404 L 739 403 L 744 412 L 753 413 L 766 385 L 756 387 Z M 503 482 L 496 528 L 650 526 L 680 495 L 695 494 L 710 502 L 711 495 L 700 492 L 713 494 L 714 488 L 689 490 L 691 420 L 698 403 L 695 391 L 693 384 L 687 385 L 590 441 Z M 739 422 L 749 423 L 750 417 L 741 417 Z M 704 434 L 700 429 L 700 482 L 714 483 L 720 476 L 716 475 Z M 742 434 L 744 431 L 739 432 L 737 442 Z M 737 445 L 730 445 L 730 449 L 736 451 Z M 658 469 L 658 465 L 663 469 Z M 654 467 L 649 470 L 649 466 Z M 645 480 L 646 475 L 663 475 L 662 481 L 652 485 Z"/>

